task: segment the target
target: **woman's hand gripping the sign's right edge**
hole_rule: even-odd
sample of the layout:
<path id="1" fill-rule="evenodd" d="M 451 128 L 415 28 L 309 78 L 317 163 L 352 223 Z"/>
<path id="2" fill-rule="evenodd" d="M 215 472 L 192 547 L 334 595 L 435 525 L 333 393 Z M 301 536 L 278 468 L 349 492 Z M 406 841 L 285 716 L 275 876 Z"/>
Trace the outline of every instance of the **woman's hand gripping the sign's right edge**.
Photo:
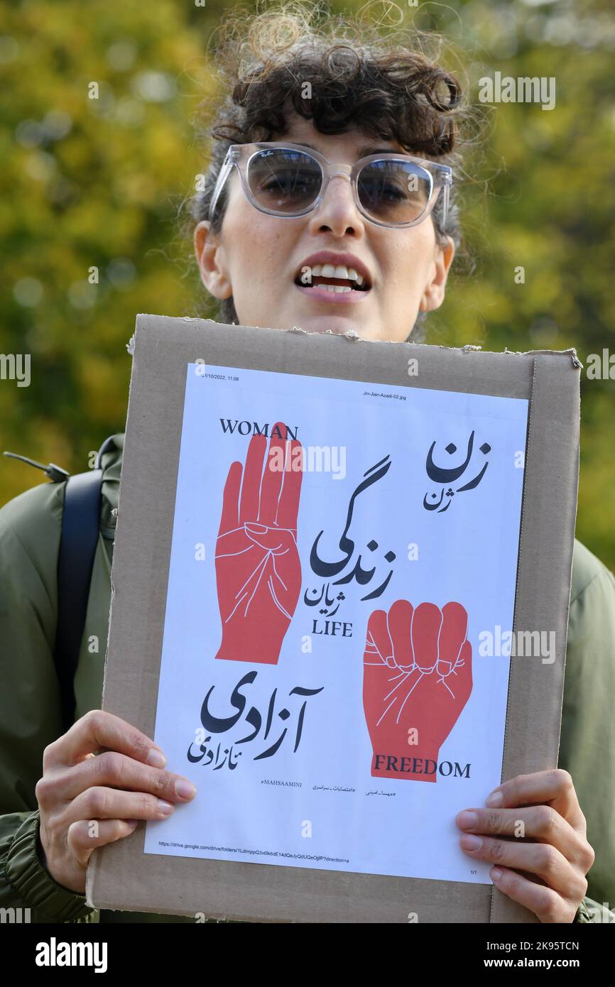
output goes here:
<path id="1" fill-rule="evenodd" d="M 490 876 L 496 887 L 541 922 L 573 922 L 595 854 L 568 771 L 517 775 L 495 789 L 486 804 L 490 807 L 457 815 L 459 829 L 467 834 L 461 837 L 462 850 L 495 864 Z M 480 845 L 472 846 L 473 840 Z"/>

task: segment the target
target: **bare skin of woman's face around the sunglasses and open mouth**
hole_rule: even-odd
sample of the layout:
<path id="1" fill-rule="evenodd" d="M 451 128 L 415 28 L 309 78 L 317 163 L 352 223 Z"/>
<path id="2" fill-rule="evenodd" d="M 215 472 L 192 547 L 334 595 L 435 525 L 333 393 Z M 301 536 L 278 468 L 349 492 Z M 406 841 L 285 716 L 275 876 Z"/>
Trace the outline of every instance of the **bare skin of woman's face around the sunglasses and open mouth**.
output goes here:
<path id="1" fill-rule="evenodd" d="M 346 165 L 373 153 L 364 150 L 368 145 L 402 150 L 395 142 L 375 142 L 360 130 L 322 134 L 295 114 L 278 139 L 309 144 L 330 162 Z M 354 330 L 367 340 L 403 341 L 419 311 L 441 304 L 454 245 L 450 238 L 444 247 L 436 245 L 430 216 L 408 229 L 376 226 L 358 212 L 350 184 L 336 177 L 313 212 L 279 218 L 251 205 L 237 169 L 228 182 L 220 234 L 210 234 L 207 221 L 198 223 L 194 249 L 203 284 L 216 298 L 233 296 L 240 325 L 297 326 L 312 333 Z M 320 263 L 364 271 L 369 290 L 330 293 L 296 284 L 303 267 L 317 266 L 314 255 L 321 252 L 333 257 Z"/>

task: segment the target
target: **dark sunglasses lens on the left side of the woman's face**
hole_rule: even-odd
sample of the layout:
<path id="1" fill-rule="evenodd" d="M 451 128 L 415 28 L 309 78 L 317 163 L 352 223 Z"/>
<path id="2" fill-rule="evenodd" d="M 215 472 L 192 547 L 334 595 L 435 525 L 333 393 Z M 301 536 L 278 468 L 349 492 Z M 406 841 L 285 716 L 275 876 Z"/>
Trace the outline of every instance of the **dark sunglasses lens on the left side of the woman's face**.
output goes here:
<path id="1" fill-rule="evenodd" d="M 309 154 L 273 147 L 257 152 L 248 165 L 248 185 L 268 212 L 296 215 L 318 197 L 323 184 L 320 165 Z"/>

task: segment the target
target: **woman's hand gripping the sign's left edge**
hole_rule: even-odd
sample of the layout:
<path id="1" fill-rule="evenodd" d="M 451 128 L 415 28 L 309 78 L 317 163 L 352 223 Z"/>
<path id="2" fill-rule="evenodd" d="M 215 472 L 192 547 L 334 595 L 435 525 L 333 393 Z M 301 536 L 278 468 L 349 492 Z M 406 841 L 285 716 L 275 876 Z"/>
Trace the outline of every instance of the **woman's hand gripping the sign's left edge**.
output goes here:
<path id="1" fill-rule="evenodd" d="M 192 782 L 163 771 L 165 764 L 149 737 L 102 710 L 45 747 L 35 792 L 43 864 L 58 884 L 83 894 L 96 847 L 128 836 L 139 819 L 166 819 L 174 802 L 194 797 Z"/>

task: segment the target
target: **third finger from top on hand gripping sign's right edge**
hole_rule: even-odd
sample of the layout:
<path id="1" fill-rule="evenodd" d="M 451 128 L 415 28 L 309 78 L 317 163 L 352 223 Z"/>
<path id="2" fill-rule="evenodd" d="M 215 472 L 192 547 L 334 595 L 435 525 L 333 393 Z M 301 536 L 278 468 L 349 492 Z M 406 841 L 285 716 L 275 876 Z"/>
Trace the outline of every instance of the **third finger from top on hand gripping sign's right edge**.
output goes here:
<path id="1" fill-rule="evenodd" d="M 469 857 L 488 861 L 499 867 L 535 874 L 555 891 L 579 894 L 583 897 L 587 881 L 548 843 L 525 843 L 520 840 L 496 839 L 490 836 L 466 834 L 460 840 L 461 849 Z"/>

